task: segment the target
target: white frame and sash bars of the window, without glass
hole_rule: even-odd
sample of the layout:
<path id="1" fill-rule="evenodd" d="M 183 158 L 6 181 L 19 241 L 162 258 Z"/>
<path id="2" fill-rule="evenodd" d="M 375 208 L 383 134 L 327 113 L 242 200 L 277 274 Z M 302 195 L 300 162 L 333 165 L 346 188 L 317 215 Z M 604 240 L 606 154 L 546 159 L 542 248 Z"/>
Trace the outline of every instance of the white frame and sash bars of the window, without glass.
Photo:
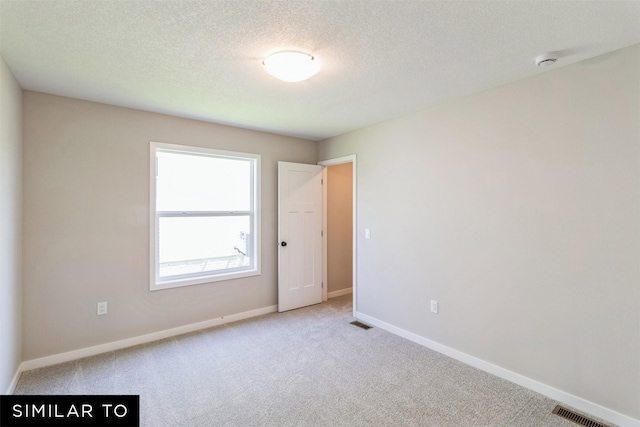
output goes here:
<path id="1" fill-rule="evenodd" d="M 252 194 L 252 208 L 249 212 L 157 212 L 156 211 L 156 176 L 157 176 L 157 160 L 156 153 L 158 151 L 173 151 L 176 153 L 188 153 L 195 155 L 211 156 L 211 157 L 226 157 L 236 158 L 242 160 L 250 160 L 252 162 L 253 176 L 253 194 Z M 161 289 L 171 289 L 182 286 L 192 286 L 204 283 L 218 282 L 222 280 L 232 280 L 242 277 L 257 276 L 260 274 L 260 155 L 250 153 L 240 153 L 235 151 L 223 151 L 212 148 L 193 147 L 186 145 L 167 144 L 162 142 L 150 143 L 150 191 L 149 191 L 149 290 L 157 291 Z M 159 218 L 160 216 L 181 216 L 181 217 L 203 217 L 203 216 L 234 216 L 234 215 L 246 215 L 249 213 L 252 226 L 253 235 L 251 238 L 251 253 L 253 265 L 249 268 L 243 268 L 241 270 L 225 270 L 222 272 L 204 272 L 202 274 L 185 275 L 179 278 L 160 279 L 159 277 L 159 264 L 158 264 L 158 252 L 159 252 Z M 177 276 L 176 276 L 177 277 Z"/>

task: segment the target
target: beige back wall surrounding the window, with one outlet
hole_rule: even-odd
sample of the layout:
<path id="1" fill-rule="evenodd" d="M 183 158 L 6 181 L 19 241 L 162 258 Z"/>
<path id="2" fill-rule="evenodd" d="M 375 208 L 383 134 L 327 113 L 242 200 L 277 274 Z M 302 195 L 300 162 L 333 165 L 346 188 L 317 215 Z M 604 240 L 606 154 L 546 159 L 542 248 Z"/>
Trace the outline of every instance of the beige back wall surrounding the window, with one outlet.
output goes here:
<path id="1" fill-rule="evenodd" d="M 262 156 L 260 276 L 149 291 L 149 141 Z M 24 359 L 275 305 L 278 160 L 316 143 L 25 92 Z"/>

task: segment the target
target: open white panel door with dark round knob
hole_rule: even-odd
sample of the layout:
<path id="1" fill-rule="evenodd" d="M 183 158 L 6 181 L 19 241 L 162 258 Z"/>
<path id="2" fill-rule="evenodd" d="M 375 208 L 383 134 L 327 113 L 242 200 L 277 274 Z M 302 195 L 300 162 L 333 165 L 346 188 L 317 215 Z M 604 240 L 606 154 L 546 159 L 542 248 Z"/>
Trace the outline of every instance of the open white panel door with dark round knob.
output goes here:
<path id="1" fill-rule="evenodd" d="M 278 311 L 322 302 L 322 166 L 278 162 Z"/>

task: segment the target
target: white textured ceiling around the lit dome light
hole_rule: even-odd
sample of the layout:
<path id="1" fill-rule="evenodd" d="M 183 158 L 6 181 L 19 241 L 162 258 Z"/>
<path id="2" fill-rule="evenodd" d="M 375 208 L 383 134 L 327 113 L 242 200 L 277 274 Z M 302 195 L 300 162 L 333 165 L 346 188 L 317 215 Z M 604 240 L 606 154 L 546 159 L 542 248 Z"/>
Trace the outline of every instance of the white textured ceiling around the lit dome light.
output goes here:
<path id="1" fill-rule="evenodd" d="M 313 140 L 636 43 L 638 0 L 0 0 L 24 89 Z M 285 48 L 320 73 L 269 76 Z"/>

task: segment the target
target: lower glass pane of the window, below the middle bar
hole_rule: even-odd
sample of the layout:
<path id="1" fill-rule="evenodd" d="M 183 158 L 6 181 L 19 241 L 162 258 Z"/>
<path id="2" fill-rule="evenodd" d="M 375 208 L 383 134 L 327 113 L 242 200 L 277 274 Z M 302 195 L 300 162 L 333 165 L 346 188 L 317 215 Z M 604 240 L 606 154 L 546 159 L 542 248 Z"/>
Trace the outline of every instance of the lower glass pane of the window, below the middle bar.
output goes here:
<path id="1" fill-rule="evenodd" d="M 159 218 L 159 276 L 251 267 L 251 219 L 246 216 Z"/>

